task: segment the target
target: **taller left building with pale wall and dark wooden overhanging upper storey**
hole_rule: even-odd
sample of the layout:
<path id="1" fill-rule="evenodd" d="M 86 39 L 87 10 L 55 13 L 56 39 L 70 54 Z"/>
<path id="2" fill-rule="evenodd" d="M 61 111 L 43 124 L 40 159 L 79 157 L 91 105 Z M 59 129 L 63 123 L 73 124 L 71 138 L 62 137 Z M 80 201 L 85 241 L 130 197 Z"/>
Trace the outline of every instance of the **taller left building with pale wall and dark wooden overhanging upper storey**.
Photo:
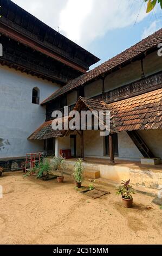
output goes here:
<path id="1" fill-rule="evenodd" d="M 27 140 L 46 116 L 40 103 L 99 59 L 15 3 L 0 5 L 0 161 L 11 167 L 43 150 L 43 141 Z"/>

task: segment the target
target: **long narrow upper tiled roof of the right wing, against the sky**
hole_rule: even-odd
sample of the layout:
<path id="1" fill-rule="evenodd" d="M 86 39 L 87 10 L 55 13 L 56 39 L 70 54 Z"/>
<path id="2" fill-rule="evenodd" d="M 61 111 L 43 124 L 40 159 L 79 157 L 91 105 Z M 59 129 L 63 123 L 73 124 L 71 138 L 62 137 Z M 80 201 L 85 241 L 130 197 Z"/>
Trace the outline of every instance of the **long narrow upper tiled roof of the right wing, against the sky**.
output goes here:
<path id="1" fill-rule="evenodd" d="M 112 70 L 118 65 L 126 63 L 128 60 L 131 60 L 135 57 L 138 57 L 140 54 L 157 47 L 157 45 L 162 42 L 162 28 L 154 34 L 148 36 L 144 40 L 138 42 L 134 46 L 128 48 L 124 52 L 116 55 L 112 59 L 107 60 L 107 62 L 102 63 L 93 70 L 90 70 L 84 75 L 81 75 L 74 80 L 70 81 L 68 84 L 57 90 L 55 93 L 50 95 L 42 104 L 47 103 L 50 100 L 55 99 L 58 96 L 61 96 L 64 93 L 69 92 L 70 90 L 75 89 L 76 87 L 83 86 L 83 84 L 93 80 L 94 78 L 104 74 L 105 72 Z"/>

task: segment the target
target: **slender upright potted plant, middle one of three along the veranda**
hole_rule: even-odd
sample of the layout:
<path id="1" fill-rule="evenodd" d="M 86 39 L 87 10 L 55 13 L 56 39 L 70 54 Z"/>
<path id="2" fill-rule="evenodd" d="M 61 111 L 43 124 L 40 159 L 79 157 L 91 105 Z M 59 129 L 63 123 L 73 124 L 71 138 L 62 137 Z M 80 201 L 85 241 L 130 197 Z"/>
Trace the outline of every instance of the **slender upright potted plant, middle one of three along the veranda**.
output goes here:
<path id="1" fill-rule="evenodd" d="M 83 181 L 83 165 L 82 159 L 78 159 L 74 164 L 74 173 L 72 174 L 76 187 L 81 187 Z"/>

